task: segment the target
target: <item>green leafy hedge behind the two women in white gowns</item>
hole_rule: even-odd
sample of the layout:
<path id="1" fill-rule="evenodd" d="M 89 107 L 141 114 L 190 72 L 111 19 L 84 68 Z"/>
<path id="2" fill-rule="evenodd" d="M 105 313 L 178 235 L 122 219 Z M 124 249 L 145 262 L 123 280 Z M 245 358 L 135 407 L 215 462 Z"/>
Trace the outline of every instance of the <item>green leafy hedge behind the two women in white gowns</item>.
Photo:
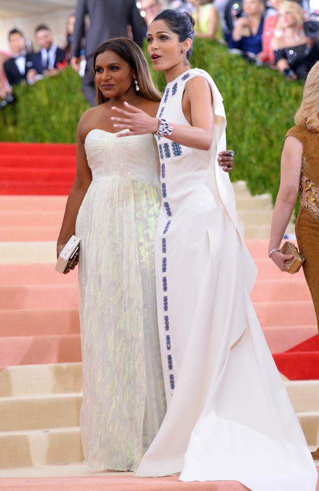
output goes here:
<path id="1" fill-rule="evenodd" d="M 191 61 L 212 75 L 224 98 L 227 147 L 236 152 L 232 180 L 247 181 L 253 194 L 275 197 L 284 136 L 294 124 L 303 84 L 229 55 L 213 41 L 196 39 Z M 153 76 L 163 90 L 163 74 Z M 0 111 L 0 140 L 74 142 L 80 114 L 88 107 L 80 83 L 68 68 L 32 87 L 16 87 L 16 105 Z"/>

